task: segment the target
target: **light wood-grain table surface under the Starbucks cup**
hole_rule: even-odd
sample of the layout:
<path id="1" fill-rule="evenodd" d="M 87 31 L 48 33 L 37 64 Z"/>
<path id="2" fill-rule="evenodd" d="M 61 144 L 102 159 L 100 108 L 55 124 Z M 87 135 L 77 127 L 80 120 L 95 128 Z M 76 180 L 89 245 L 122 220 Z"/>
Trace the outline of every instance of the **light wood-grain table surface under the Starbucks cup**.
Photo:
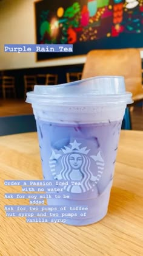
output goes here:
<path id="1" fill-rule="evenodd" d="M 143 255 L 143 132 L 121 131 L 115 178 L 107 216 L 89 226 L 26 223 L 8 218 L 4 205 L 29 205 L 28 199 L 4 199 L 21 192 L 7 179 L 42 179 L 36 133 L 0 137 L 0 255 Z M 19 188 L 19 189 L 18 189 Z"/>

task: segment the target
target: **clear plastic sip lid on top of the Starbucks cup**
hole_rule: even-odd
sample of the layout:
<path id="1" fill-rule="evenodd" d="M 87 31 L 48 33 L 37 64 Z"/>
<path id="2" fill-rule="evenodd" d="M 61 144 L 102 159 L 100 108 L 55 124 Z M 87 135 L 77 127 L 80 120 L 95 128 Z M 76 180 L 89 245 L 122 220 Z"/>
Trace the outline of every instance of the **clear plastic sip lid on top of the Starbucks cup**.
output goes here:
<path id="1" fill-rule="evenodd" d="M 122 76 L 96 76 L 61 85 L 35 85 L 26 102 L 48 105 L 96 105 L 111 102 L 131 104 Z M 77 104 L 76 104 L 77 105 Z"/>

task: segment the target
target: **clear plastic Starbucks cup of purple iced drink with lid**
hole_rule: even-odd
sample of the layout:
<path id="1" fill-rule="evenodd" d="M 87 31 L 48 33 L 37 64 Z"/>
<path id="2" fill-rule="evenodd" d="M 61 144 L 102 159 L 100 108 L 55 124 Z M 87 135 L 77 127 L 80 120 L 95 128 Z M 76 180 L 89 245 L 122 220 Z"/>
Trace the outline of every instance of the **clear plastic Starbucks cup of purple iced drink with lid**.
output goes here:
<path id="1" fill-rule="evenodd" d="M 84 216 L 66 216 L 65 224 L 100 221 L 108 210 L 125 108 L 133 102 L 124 77 L 36 85 L 26 101 L 36 119 L 44 179 L 63 184 L 61 197 L 48 205 L 88 208 Z"/>

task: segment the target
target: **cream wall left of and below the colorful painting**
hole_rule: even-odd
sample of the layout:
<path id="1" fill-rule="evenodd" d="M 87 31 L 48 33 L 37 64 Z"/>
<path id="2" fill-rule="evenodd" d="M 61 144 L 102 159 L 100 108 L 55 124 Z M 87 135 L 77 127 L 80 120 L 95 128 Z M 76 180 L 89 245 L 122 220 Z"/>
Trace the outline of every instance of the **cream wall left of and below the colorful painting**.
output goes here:
<path id="1" fill-rule="evenodd" d="M 71 65 L 85 62 L 81 57 L 60 58 L 36 62 L 35 52 L 5 53 L 4 44 L 34 44 L 34 0 L 2 0 L 0 2 L 0 70 Z"/>

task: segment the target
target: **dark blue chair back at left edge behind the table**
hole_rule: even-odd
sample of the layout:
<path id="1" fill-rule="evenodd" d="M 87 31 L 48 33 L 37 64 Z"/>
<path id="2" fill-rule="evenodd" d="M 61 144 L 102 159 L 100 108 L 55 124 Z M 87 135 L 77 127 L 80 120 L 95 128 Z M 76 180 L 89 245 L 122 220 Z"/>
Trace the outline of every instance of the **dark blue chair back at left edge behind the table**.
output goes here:
<path id="1" fill-rule="evenodd" d="M 34 115 L 0 117 L 0 136 L 24 132 L 36 132 Z"/>

